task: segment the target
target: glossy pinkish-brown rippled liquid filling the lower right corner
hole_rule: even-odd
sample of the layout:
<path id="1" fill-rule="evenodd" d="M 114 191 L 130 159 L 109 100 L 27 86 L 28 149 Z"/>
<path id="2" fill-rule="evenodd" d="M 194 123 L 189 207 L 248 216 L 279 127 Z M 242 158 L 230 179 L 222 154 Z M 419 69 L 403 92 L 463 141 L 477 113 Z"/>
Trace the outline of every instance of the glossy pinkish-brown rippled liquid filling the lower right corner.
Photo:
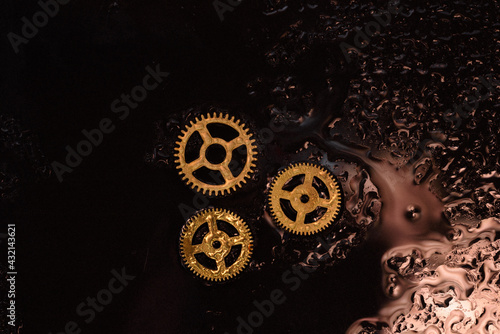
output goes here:
<path id="1" fill-rule="evenodd" d="M 311 124 L 325 122 L 304 120 L 291 131 L 294 138 L 311 140 L 329 157 L 355 161 L 382 198 L 370 235 L 386 250 L 381 263 L 387 301 L 377 317 L 358 320 L 348 333 L 359 333 L 367 323 L 388 328 L 389 333 L 499 332 L 500 241 L 495 241 L 495 232 L 500 231 L 500 221 L 450 225 L 443 214 L 447 205 L 463 200 L 445 204 L 431 191 L 438 171 L 422 171 L 425 158 L 396 167 L 371 157 L 366 149 L 325 140 L 310 130 Z M 354 205 L 347 197 L 352 213 Z"/>

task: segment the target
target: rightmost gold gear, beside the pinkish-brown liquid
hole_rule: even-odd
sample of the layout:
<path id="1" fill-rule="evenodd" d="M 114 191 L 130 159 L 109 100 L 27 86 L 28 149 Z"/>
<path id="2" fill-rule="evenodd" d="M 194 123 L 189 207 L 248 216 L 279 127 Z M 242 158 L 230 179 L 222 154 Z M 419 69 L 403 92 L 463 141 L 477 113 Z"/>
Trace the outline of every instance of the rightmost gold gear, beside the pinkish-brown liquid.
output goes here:
<path id="1" fill-rule="evenodd" d="M 309 235 L 326 229 L 339 216 L 343 195 L 339 181 L 323 166 L 294 163 L 274 178 L 268 203 L 279 226 Z"/>

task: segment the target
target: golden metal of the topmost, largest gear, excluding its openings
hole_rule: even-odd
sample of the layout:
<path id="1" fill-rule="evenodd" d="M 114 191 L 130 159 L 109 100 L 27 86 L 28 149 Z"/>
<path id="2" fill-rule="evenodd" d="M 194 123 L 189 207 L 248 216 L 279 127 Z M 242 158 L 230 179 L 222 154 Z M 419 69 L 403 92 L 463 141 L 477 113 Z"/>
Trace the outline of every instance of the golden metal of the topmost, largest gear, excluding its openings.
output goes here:
<path id="1" fill-rule="evenodd" d="M 212 137 L 207 125 L 209 124 L 224 124 L 238 132 L 238 136 L 230 141 L 226 141 L 222 138 Z M 186 162 L 186 145 L 191 138 L 191 136 L 198 132 L 203 144 L 200 147 L 198 158 L 194 161 Z M 183 180 L 193 189 L 208 195 L 224 195 L 236 190 L 237 187 L 241 187 L 242 184 L 246 182 L 246 178 L 250 177 L 253 173 L 253 168 L 255 167 L 255 160 L 257 160 L 256 146 L 254 145 L 255 140 L 252 139 L 252 135 L 249 130 L 245 127 L 245 124 L 240 122 L 240 120 L 232 116 L 229 118 L 227 114 L 213 113 L 210 115 L 202 115 L 200 118 L 182 130 L 182 135 L 179 136 L 179 141 L 176 142 L 176 160 L 177 169 L 179 169 L 179 174 L 182 176 Z M 207 158 L 207 149 L 211 145 L 220 145 L 224 148 L 225 157 L 220 163 L 212 163 Z M 230 162 L 233 156 L 233 151 L 240 146 L 244 145 L 246 148 L 246 161 L 242 167 L 241 172 L 234 176 L 230 169 Z M 194 173 L 200 168 L 205 167 L 212 171 L 218 171 L 222 178 L 224 179 L 223 184 L 211 184 L 206 180 L 200 180 Z"/>

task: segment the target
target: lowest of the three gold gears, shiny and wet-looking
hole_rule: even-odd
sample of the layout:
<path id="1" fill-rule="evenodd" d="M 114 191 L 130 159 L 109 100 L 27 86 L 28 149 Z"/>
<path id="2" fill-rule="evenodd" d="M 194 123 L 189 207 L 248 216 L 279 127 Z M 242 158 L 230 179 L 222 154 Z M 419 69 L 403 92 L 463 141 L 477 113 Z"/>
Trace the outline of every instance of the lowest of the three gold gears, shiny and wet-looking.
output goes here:
<path id="1" fill-rule="evenodd" d="M 239 247 L 234 247 L 238 245 L 241 245 L 239 254 Z M 250 261 L 252 234 L 236 214 L 205 209 L 182 228 L 180 249 L 182 261 L 193 273 L 209 281 L 224 281 L 239 274 Z M 204 256 L 196 257 L 197 254 Z"/>

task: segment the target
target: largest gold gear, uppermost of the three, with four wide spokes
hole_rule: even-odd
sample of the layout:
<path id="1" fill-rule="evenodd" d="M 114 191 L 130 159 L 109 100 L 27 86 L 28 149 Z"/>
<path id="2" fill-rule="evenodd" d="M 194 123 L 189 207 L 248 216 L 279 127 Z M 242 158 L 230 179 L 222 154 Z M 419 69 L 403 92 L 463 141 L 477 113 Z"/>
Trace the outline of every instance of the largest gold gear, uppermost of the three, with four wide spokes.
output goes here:
<path id="1" fill-rule="evenodd" d="M 177 169 L 191 188 L 205 195 L 225 195 L 254 172 L 255 140 L 240 120 L 213 113 L 182 130 L 176 142 Z"/>

